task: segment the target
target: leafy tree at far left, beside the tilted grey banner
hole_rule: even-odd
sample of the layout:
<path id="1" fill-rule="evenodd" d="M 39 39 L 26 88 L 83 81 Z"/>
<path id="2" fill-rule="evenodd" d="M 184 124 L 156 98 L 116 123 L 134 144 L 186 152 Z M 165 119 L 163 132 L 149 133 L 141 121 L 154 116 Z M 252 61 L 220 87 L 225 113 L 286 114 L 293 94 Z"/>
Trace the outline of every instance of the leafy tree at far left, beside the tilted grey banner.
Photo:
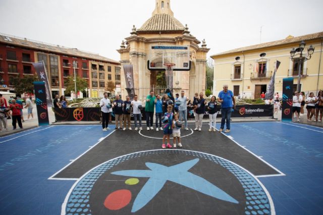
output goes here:
<path id="1" fill-rule="evenodd" d="M 37 76 L 26 75 L 23 78 L 18 76 L 10 77 L 10 83 L 15 86 L 16 94 L 34 93 L 33 82 L 38 81 Z"/>

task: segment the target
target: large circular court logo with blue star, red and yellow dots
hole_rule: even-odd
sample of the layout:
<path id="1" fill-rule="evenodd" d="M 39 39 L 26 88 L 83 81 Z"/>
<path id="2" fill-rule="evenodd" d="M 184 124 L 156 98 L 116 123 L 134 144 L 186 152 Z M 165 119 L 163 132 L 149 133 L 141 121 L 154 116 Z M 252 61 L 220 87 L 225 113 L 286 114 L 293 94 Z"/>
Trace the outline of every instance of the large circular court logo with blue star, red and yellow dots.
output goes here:
<path id="1" fill-rule="evenodd" d="M 70 190 L 66 214 L 271 214 L 248 171 L 189 150 L 127 154 L 93 168 Z"/>

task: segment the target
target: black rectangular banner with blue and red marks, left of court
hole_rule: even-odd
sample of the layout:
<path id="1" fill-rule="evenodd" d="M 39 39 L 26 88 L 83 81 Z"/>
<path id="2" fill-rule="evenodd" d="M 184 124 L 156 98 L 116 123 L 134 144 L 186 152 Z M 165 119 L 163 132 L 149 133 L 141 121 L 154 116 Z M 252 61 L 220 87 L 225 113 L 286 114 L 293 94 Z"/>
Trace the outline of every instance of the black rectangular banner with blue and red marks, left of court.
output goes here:
<path id="1" fill-rule="evenodd" d="M 35 90 L 38 124 L 49 125 L 45 83 L 43 81 L 35 81 L 33 84 Z"/>

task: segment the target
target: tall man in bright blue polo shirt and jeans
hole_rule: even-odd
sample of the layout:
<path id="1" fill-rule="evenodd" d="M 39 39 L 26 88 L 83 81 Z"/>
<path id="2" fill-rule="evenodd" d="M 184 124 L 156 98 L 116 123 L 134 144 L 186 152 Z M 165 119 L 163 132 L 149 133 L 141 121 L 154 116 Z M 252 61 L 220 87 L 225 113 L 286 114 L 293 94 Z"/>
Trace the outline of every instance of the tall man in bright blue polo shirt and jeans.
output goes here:
<path id="1" fill-rule="evenodd" d="M 224 129 L 224 124 L 227 121 L 227 129 L 225 133 L 230 132 L 230 118 L 232 110 L 236 108 L 236 99 L 234 98 L 233 92 L 228 90 L 228 84 L 223 85 L 223 90 L 219 92 L 218 101 L 221 103 L 221 127 L 220 132 Z M 232 109 L 233 104 L 233 109 Z"/>

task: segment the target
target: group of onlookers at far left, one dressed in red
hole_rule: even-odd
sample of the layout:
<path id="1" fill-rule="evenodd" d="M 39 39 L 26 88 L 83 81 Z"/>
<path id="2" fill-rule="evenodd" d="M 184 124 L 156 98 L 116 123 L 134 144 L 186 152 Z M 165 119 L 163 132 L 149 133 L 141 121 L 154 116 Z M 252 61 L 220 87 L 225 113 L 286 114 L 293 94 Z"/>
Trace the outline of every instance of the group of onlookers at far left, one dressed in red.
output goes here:
<path id="1" fill-rule="evenodd" d="M 31 117 L 34 118 L 32 110 L 33 105 L 31 101 L 31 97 L 27 98 L 25 100 L 26 105 L 25 108 L 28 110 L 27 119 Z M 0 94 L 0 131 L 4 129 L 8 130 L 8 123 L 7 120 L 12 119 L 12 126 L 15 130 L 17 128 L 17 123 L 19 128 L 23 128 L 22 123 L 25 122 L 23 117 L 23 104 L 20 99 L 17 99 L 17 97 L 14 97 L 11 100 L 11 104 L 8 106 L 6 98 L 3 97 L 2 94 Z"/>

